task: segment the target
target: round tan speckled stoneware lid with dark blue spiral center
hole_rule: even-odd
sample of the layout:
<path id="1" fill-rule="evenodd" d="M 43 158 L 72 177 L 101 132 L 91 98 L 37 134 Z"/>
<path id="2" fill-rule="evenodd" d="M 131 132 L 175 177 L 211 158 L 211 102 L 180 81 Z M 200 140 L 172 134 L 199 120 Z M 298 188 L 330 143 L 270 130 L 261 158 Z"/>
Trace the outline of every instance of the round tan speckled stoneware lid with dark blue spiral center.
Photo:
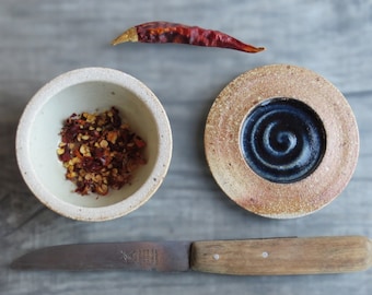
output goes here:
<path id="1" fill-rule="evenodd" d="M 291 219 L 324 208 L 345 189 L 359 133 L 332 83 L 307 69 L 274 64 L 243 73 L 219 94 L 205 148 L 214 179 L 234 202 Z"/>

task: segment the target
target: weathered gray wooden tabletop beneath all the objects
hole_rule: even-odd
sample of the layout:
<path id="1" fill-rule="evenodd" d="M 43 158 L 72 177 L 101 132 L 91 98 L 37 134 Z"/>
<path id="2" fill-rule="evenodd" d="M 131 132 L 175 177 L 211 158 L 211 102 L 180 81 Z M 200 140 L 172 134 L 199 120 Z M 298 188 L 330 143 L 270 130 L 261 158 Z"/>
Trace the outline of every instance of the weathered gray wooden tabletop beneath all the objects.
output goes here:
<path id="1" fill-rule="evenodd" d="M 258 55 L 177 45 L 111 47 L 123 30 L 166 20 L 216 28 Z M 372 1 L 48 1 L 0 2 L 1 294 L 372 294 L 372 270 L 353 274 L 236 278 L 200 273 L 20 272 L 8 264 L 43 246 L 138 239 L 198 240 L 279 236 L 372 237 Z M 333 82 L 354 110 L 360 160 L 347 189 L 322 211 L 297 220 L 255 216 L 216 185 L 205 160 L 204 126 L 233 78 L 269 63 L 309 68 Z M 174 153 L 156 194 L 138 211 L 104 223 L 61 217 L 28 191 L 16 166 L 18 120 L 56 75 L 111 67 L 143 81 L 171 120 Z"/>

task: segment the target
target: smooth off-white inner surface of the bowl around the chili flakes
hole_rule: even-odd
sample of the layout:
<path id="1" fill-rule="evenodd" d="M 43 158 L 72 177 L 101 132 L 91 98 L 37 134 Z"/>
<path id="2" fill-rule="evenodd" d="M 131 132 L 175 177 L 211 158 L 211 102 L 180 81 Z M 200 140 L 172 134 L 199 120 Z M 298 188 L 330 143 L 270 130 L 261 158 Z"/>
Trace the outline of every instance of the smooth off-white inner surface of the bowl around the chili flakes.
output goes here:
<path id="1" fill-rule="evenodd" d="M 147 95 L 146 90 L 141 91 Z M 66 169 L 56 154 L 61 140 L 59 132 L 63 120 L 73 113 L 104 111 L 112 106 L 119 109 L 123 121 L 147 142 L 144 156 L 148 162 L 136 170 L 131 184 L 120 190 L 111 189 L 108 196 L 98 198 L 92 193 L 80 196 L 73 191 L 74 185 L 66 180 Z M 133 194 L 149 179 L 159 153 L 159 130 L 148 102 L 139 99 L 138 93 L 107 81 L 82 82 L 53 93 L 49 99 L 35 107 L 36 116 L 27 120 L 30 132 L 24 140 L 30 166 L 34 169 L 32 174 L 38 178 L 40 189 L 53 198 L 83 208 L 107 206 Z"/>

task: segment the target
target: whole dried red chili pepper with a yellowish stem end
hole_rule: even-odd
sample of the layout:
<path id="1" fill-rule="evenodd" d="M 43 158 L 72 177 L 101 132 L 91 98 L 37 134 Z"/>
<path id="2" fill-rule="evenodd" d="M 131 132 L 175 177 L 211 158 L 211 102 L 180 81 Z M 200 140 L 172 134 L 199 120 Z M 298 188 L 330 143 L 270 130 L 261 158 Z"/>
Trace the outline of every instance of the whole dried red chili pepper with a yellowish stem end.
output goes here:
<path id="1" fill-rule="evenodd" d="M 177 43 L 206 47 L 220 47 L 244 52 L 259 52 L 264 47 L 244 44 L 222 32 L 167 22 L 150 22 L 130 27 L 112 42 Z"/>

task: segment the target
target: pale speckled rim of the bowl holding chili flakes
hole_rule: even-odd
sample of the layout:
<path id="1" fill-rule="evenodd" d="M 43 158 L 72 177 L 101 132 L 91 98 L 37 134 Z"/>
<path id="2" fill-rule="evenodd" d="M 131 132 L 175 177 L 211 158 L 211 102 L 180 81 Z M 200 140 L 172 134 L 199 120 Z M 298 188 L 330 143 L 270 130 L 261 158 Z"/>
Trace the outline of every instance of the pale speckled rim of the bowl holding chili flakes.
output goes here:
<path id="1" fill-rule="evenodd" d="M 53 97 L 65 88 L 85 82 L 107 82 L 133 93 L 140 97 L 142 103 L 152 113 L 153 119 L 158 126 L 159 146 L 158 161 L 154 164 L 148 179 L 143 185 L 130 197 L 106 206 L 86 208 L 66 202 L 47 191 L 34 175 L 33 164 L 30 157 L 30 149 L 24 144 L 25 139 L 30 137 L 33 120 L 43 106 Z M 15 154 L 16 162 L 21 175 L 33 194 L 47 208 L 63 215 L 66 217 L 78 221 L 108 221 L 124 216 L 144 204 L 159 189 L 163 182 L 168 166 L 171 164 L 173 152 L 173 138 L 171 125 L 159 98 L 155 94 L 141 81 L 135 76 L 119 70 L 101 67 L 80 68 L 65 72 L 44 86 L 42 86 L 32 96 L 26 104 L 15 134 Z"/>

